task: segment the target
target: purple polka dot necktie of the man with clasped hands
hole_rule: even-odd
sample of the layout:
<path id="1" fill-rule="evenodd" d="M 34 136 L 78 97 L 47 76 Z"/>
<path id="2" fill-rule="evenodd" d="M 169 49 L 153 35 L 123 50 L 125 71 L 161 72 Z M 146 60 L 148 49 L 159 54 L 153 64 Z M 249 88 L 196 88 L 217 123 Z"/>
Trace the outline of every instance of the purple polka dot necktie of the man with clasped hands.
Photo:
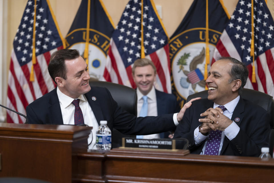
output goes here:
<path id="1" fill-rule="evenodd" d="M 218 108 L 221 108 L 223 112 L 227 110 L 225 106 L 218 106 Z M 222 131 L 220 130 L 210 131 L 204 155 L 218 155 L 221 143 L 221 136 Z"/>

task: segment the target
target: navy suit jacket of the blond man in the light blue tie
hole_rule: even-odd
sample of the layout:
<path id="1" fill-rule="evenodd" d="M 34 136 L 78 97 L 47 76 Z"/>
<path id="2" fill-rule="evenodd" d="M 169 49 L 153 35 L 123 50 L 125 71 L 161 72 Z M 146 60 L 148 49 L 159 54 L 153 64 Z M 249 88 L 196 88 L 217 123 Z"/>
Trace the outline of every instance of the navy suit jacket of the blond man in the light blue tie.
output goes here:
<path id="1" fill-rule="evenodd" d="M 157 89 L 155 89 L 155 92 L 158 116 L 180 112 L 180 106 L 174 95 L 160 92 Z M 168 138 L 169 134 L 169 132 L 160 133 L 160 138 Z"/>

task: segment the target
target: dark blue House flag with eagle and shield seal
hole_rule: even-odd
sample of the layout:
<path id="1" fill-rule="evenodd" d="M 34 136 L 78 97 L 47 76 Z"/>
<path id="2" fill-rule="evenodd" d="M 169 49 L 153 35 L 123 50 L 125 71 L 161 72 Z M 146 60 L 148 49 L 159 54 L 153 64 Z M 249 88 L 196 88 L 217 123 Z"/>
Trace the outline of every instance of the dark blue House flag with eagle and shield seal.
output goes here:
<path id="1" fill-rule="evenodd" d="M 206 1 L 194 0 L 170 37 L 172 93 L 181 102 L 181 107 L 189 95 L 203 91 L 206 86 Z M 229 21 L 228 16 L 221 0 L 208 0 L 209 61 L 221 31 Z"/>

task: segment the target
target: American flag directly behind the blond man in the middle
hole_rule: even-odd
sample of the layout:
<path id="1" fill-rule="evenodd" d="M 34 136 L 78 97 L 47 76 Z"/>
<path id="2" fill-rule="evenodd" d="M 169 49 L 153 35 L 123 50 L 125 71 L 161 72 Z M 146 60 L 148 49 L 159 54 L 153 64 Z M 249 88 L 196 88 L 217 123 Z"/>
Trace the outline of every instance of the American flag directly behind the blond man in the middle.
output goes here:
<path id="1" fill-rule="evenodd" d="M 126 5 L 110 39 L 104 78 L 136 88 L 131 68 L 134 61 L 141 58 L 141 34 L 146 58 L 152 60 L 157 69 L 155 87 L 171 93 L 168 35 L 152 0 L 143 0 L 143 5 L 141 0 L 130 0 Z"/>

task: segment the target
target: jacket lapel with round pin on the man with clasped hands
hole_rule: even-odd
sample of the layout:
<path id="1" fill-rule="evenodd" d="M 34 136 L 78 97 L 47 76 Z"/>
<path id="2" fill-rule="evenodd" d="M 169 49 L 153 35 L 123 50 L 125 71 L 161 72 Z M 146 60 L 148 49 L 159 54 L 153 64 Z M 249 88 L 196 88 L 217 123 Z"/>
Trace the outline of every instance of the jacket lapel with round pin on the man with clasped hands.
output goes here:
<path id="1" fill-rule="evenodd" d="M 245 102 L 240 97 L 240 100 L 239 100 L 237 106 L 235 107 L 234 112 L 231 117 L 231 120 L 234 121 L 238 126 L 240 126 L 241 121 L 244 118 L 244 111 L 245 111 Z M 235 118 L 237 118 L 237 120 L 235 120 Z M 239 121 L 238 121 L 238 119 L 239 119 Z M 225 138 L 227 138 L 227 137 L 225 136 Z M 224 140 L 223 147 L 222 147 L 220 154 L 223 154 L 223 152 L 227 148 L 227 146 L 228 146 L 228 140 Z"/>

